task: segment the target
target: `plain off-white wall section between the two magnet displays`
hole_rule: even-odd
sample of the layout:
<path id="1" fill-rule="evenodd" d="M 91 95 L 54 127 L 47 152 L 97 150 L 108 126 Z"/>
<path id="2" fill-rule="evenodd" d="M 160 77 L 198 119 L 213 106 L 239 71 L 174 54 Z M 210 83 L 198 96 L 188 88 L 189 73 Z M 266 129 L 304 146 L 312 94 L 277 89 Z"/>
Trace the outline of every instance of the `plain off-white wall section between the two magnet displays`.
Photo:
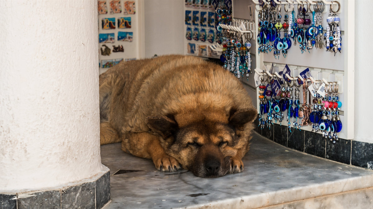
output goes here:
<path id="1" fill-rule="evenodd" d="M 183 54 L 184 0 L 144 0 L 145 57 Z"/>

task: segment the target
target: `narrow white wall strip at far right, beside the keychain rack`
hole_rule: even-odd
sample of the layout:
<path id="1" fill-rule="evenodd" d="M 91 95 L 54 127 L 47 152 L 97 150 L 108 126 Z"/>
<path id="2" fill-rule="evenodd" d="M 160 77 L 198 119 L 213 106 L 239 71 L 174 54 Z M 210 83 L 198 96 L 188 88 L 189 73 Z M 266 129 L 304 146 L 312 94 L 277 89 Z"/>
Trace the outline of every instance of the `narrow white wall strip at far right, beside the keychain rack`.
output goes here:
<path id="1" fill-rule="evenodd" d="M 373 143 L 372 19 L 373 1 L 355 1 L 355 132 L 354 140 Z"/>

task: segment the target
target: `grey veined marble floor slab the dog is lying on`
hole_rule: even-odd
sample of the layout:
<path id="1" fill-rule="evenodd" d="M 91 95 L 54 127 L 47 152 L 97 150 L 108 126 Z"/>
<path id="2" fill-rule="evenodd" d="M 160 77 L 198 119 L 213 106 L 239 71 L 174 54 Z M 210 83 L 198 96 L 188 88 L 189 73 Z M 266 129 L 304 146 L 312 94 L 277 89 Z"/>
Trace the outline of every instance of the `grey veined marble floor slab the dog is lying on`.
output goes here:
<path id="1" fill-rule="evenodd" d="M 373 171 L 282 147 L 256 133 L 242 173 L 216 179 L 160 172 L 151 160 L 101 146 L 113 208 L 373 208 Z M 115 174 L 116 173 L 116 174 Z M 113 175 L 114 174 L 114 175 Z"/>

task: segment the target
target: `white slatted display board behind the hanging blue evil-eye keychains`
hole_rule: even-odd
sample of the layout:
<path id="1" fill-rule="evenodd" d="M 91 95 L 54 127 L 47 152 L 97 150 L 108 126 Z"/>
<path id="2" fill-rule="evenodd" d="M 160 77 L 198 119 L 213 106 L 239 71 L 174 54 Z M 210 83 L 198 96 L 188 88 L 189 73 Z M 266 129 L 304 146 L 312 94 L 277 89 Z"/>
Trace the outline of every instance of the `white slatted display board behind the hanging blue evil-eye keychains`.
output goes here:
<path id="1" fill-rule="evenodd" d="M 256 37 L 260 37 L 260 11 L 263 9 L 263 3 L 272 4 L 273 7 L 276 9 L 273 10 L 273 24 L 280 22 L 281 27 L 279 25 L 278 28 L 282 28 L 282 30 L 279 33 L 280 38 L 282 37 L 288 37 L 284 36 L 283 32 L 287 32 L 288 28 L 291 28 L 291 22 L 288 19 L 289 26 L 286 27 L 283 26 L 283 22 L 286 22 L 283 18 L 286 15 L 286 12 L 288 12 L 287 16 L 290 16 L 290 13 L 292 12 L 292 8 L 295 10 L 295 14 L 297 14 L 297 9 L 299 8 L 305 8 L 306 13 L 308 12 L 308 16 L 310 19 L 313 20 L 314 13 L 312 13 L 314 8 L 317 8 L 316 4 L 321 5 L 321 2 L 324 5 L 324 10 L 321 13 L 322 17 L 322 26 L 324 27 L 320 31 L 322 31 L 321 34 L 324 35 L 326 33 L 327 25 L 332 24 L 330 22 L 330 15 L 329 10 L 332 10 L 332 13 L 335 14 L 334 16 L 338 17 L 338 25 L 339 25 L 339 37 L 341 37 L 339 40 L 341 40 L 341 46 L 335 47 L 335 53 L 330 52 L 333 48 L 331 48 L 329 51 L 326 50 L 324 47 L 323 49 L 316 48 L 315 46 L 313 48 L 310 48 L 308 51 L 308 43 L 304 42 L 305 48 L 303 50 L 300 48 L 301 44 L 297 41 L 296 45 L 294 44 L 294 40 L 291 39 L 292 46 L 287 49 L 286 56 L 282 55 L 281 50 L 278 50 L 280 54 L 277 54 L 274 56 L 273 51 L 272 53 L 266 53 L 265 51 L 260 51 L 258 48 L 260 47 L 260 42 L 256 42 L 255 46 L 251 46 L 252 50 L 256 50 L 256 74 L 263 75 L 263 73 L 266 74 L 267 77 L 280 77 L 278 79 L 283 79 L 283 75 L 280 75 L 283 73 L 283 69 L 285 68 L 285 65 L 287 65 L 288 69 L 290 70 L 289 75 L 287 78 L 290 80 L 300 77 L 300 74 L 302 71 L 304 71 L 306 68 L 310 70 L 310 73 L 312 74 L 312 78 L 308 78 L 308 85 L 312 85 L 313 83 L 317 83 L 317 86 L 320 86 L 322 83 L 325 84 L 325 86 L 330 86 L 329 91 L 336 91 L 336 86 L 338 85 L 338 92 L 335 92 L 335 94 L 338 93 L 339 96 L 339 102 L 342 104 L 342 106 L 339 108 L 339 119 L 342 122 L 342 129 L 338 133 L 338 138 L 341 139 L 353 139 L 354 138 L 354 2 L 353 1 L 347 1 L 347 0 L 338 0 L 338 1 L 299 1 L 299 0 L 271 0 L 269 2 L 267 1 L 238 1 L 233 0 L 233 8 L 235 7 L 246 7 L 248 9 L 254 7 L 254 17 L 255 17 L 255 32 L 254 35 Z M 279 5 L 282 7 L 282 10 L 279 11 Z M 287 7 L 287 10 L 284 9 Z M 311 13 L 308 10 L 308 7 L 311 7 Z M 330 9 L 329 9 L 330 8 Z M 337 9 L 338 8 L 338 9 Z M 305 10 L 304 9 L 304 10 Z M 304 11 L 303 10 L 303 11 Z M 337 11 L 338 10 L 338 11 Z M 299 19 L 295 16 L 293 13 L 293 18 L 295 20 Z M 304 15 L 305 13 L 303 13 Z M 280 15 L 280 16 L 278 16 Z M 320 14 L 319 14 L 320 15 Z M 233 17 L 235 17 L 235 10 L 233 9 Z M 242 16 L 242 15 L 240 15 Z M 277 17 L 277 18 L 276 18 Z M 329 19 L 328 19 L 329 17 Z M 305 17 L 301 17 L 302 19 L 305 19 Z M 333 17 L 334 18 L 334 17 Z M 307 18 L 306 18 L 307 19 Z M 315 21 L 312 21 L 308 24 L 315 24 Z M 329 21 L 327 23 L 327 21 Z M 332 20 L 333 21 L 333 20 Z M 263 22 L 262 22 L 263 23 Z M 267 24 L 267 23 L 266 23 Z M 305 24 L 305 23 L 304 23 Z M 286 28 L 284 30 L 283 28 Z M 304 27 L 305 28 L 305 27 Z M 305 29 L 304 29 L 305 31 Z M 330 30 L 332 31 L 332 30 Z M 337 31 L 337 30 L 336 30 Z M 332 32 L 330 32 L 332 33 Z M 337 33 L 336 33 L 337 34 Z M 303 35 L 303 34 L 302 34 Z M 329 34 L 327 34 L 329 35 Z M 276 35 L 278 37 L 278 35 Z M 312 43 L 312 39 L 307 37 L 304 40 L 310 40 Z M 338 37 L 338 36 L 335 36 Z M 267 38 L 267 37 L 266 37 Z M 260 39 L 260 38 L 259 38 Z M 332 43 L 332 41 L 330 41 Z M 330 44 L 329 43 L 329 44 Z M 334 42 L 335 44 L 338 44 L 338 42 Z M 281 49 L 284 49 L 282 47 Z M 340 51 L 340 52 L 339 52 Z M 280 56 L 279 56 L 280 55 Z M 273 71 L 272 73 L 269 72 L 273 64 Z M 257 75 L 256 75 L 257 76 Z M 271 77 L 271 78 L 272 78 Z M 257 83 L 256 86 L 258 86 Z M 303 93 L 302 93 L 302 86 L 300 86 L 300 94 L 299 94 L 299 100 L 300 100 L 300 106 L 302 106 L 303 102 Z M 293 87 L 295 88 L 295 86 Z M 257 88 L 257 98 L 261 95 L 263 95 L 262 92 L 263 89 Z M 293 91 L 294 92 L 294 91 Z M 264 95 L 265 96 L 265 95 Z M 293 96 L 294 93 L 293 93 Z M 312 100 L 312 99 L 311 99 Z M 254 99 L 253 99 L 254 101 Z M 257 107 L 258 107 L 258 113 L 260 113 L 260 99 L 257 99 Z M 313 105 L 313 102 L 311 102 L 311 105 Z M 323 103 L 323 105 L 325 105 Z M 288 122 L 286 121 L 286 112 L 285 119 L 281 122 L 277 120 L 277 122 L 273 121 L 276 124 L 288 126 Z M 293 120 L 293 119 L 291 119 Z M 292 126 L 292 125 L 291 125 Z M 300 129 L 305 131 L 312 131 L 312 126 L 301 126 Z M 292 129 L 292 131 L 298 131 L 298 129 Z M 321 131 L 317 132 L 322 134 Z"/>

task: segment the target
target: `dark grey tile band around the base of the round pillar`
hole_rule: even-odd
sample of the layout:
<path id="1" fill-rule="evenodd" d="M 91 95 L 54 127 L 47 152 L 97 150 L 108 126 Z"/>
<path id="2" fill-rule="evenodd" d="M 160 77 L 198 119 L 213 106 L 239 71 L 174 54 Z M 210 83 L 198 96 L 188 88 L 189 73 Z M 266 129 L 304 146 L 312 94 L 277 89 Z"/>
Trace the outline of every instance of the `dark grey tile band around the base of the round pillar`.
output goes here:
<path id="1" fill-rule="evenodd" d="M 13 200 L 14 199 L 14 200 Z M 1 209 L 102 208 L 110 201 L 110 171 L 93 182 L 61 190 L 0 194 Z M 18 205 L 18 207 L 17 207 Z"/>

